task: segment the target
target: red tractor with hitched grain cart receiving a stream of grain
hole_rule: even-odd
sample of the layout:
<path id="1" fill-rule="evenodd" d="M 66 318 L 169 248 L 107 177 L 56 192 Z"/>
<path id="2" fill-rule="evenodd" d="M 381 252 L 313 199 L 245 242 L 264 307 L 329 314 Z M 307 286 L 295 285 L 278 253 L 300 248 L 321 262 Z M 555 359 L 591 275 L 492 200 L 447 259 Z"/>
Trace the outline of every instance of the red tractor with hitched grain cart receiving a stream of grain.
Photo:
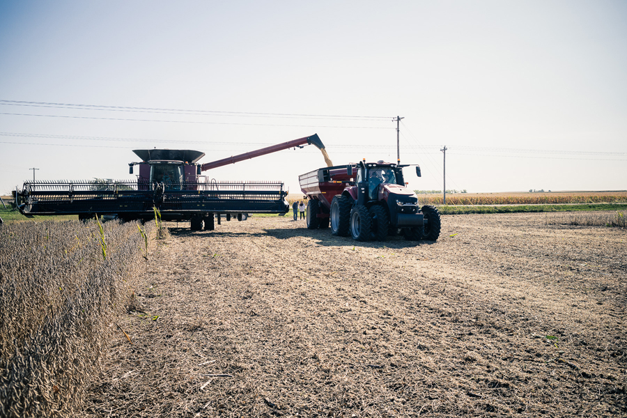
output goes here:
<path id="1" fill-rule="evenodd" d="M 299 176 L 309 197 L 307 228 L 327 228 L 333 235 L 359 241 L 385 240 L 402 231 L 408 240 L 438 240 L 440 214 L 418 205 L 403 178 L 407 164 L 366 162 L 325 167 Z M 420 167 L 416 167 L 420 177 Z"/>

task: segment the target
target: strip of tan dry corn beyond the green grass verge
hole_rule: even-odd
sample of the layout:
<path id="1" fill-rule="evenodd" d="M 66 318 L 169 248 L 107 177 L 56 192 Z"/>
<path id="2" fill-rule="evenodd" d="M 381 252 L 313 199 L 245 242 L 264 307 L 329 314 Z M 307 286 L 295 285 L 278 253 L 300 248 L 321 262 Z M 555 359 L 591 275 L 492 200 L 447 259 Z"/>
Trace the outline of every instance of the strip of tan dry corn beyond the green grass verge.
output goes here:
<path id="1" fill-rule="evenodd" d="M 442 195 L 420 195 L 421 204 L 442 205 Z M 530 194 L 529 196 L 464 196 L 447 194 L 447 205 L 559 205 L 568 203 L 624 203 L 626 196 L 577 195 L 577 194 Z"/>

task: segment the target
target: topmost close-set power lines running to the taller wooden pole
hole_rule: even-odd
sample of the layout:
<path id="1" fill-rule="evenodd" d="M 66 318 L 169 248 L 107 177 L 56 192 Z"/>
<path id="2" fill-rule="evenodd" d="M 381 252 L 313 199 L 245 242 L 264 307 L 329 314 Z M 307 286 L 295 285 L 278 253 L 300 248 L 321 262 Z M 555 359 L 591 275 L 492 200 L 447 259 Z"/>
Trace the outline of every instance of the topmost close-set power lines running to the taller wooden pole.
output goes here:
<path id="1" fill-rule="evenodd" d="M 281 114 L 262 113 L 247 111 L 219 111 L 219 110 L 198 110 L 198 109 L 163 109 L 158 107 L 129 107 L 129 106 L 104 106 L 100 104 L 75 104 L 75 103 L 54 103 L 54 102 L 26 102 L 24 100 L 0 100 L 0 104 L 10 106 L 29 107 L 49 107 L 54 109 L 81 109 L 99 111 L 136 111 L 145 113 L 162 114 L 191 114 L 203 116 L 245 116 L 254 118 L 314 118 L 314 119 L 343 119 L 343 120 L 373 120 L 387 121 L 387 116 L 350 116 L 350 115 L 316 115 L 316 114 Z"/>

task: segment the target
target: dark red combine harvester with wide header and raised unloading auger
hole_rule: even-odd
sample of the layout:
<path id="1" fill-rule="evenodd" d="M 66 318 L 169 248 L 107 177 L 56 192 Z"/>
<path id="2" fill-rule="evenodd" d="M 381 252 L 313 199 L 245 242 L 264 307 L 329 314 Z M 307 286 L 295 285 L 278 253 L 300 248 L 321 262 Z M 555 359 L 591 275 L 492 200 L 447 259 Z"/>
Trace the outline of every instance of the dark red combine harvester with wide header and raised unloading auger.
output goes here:
<path id="1" fill-rule="evenodd" d="M 221 214 L 241 220 L 247 213 L 286 213 L 287 192 L 281 182 L 216 181 L 202 172 L 249 160 L 288 148 L 314 145 L 323 150 L 317 134 L 261 148 L 205 164 L 205 155 L 195 150 L 134 150 L 141 162 L 129 164 L 132 174 L 138 166 L 137 181 L 128 180 L 44 180 L 26 181 L 15 191 L 15 203 L 23 215 L 78 215 L 90 219 L 114 215 L 119 219 L 151 219 L 158 208 L 164 221 L 190 221 L 191 228 L 215 229 Z"/>

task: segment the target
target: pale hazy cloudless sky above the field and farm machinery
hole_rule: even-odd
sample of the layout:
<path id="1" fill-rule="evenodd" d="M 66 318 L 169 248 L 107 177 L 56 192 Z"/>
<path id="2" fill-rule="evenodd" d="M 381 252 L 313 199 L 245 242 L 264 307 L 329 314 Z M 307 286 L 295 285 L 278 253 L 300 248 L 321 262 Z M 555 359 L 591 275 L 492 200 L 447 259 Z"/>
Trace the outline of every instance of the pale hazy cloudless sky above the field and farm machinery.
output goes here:
<path id="1" fill-rule="evenodd" d="M 394 161 L 395 116 L 413 189 L 442 189 L 444 145 L 448 189 L 627 189 L 625 22 L 624 0 L 0 0 L 0 192 L 314 133 L 334 164 Z M 324 165 L 309 146 L 207 174 L 300 192 Z"/>

